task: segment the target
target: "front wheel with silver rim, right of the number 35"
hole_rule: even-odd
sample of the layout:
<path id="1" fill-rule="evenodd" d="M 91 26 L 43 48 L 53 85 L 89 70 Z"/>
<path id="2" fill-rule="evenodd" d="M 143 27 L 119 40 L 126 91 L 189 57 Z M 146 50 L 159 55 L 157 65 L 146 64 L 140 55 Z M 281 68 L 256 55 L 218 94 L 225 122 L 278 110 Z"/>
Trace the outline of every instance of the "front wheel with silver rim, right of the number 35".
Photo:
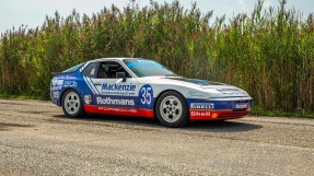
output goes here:
<path id="1" fill-rule="evenodd" d="M 185 98 L 175 91 L 164 92 L 154 110 L 159 121 L 166 127 L 183 127 L 189 122 Z"/>

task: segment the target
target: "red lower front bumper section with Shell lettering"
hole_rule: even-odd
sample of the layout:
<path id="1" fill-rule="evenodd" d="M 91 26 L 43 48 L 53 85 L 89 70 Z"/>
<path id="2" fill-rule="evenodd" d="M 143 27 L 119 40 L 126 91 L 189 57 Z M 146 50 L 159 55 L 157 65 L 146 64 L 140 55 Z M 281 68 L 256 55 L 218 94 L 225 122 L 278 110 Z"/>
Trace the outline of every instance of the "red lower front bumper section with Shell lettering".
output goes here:
<path id="1" fill-rule="evenodd" d="M 226 119 L 235 119 L 235 118 L 245 117 L 246 115 L 248 115 L 248 113 L 249 113 L 249 108 L 240 109 L 240 110 L 190 109 L 189 118 L 190 120 L 226 120 Z"/>

